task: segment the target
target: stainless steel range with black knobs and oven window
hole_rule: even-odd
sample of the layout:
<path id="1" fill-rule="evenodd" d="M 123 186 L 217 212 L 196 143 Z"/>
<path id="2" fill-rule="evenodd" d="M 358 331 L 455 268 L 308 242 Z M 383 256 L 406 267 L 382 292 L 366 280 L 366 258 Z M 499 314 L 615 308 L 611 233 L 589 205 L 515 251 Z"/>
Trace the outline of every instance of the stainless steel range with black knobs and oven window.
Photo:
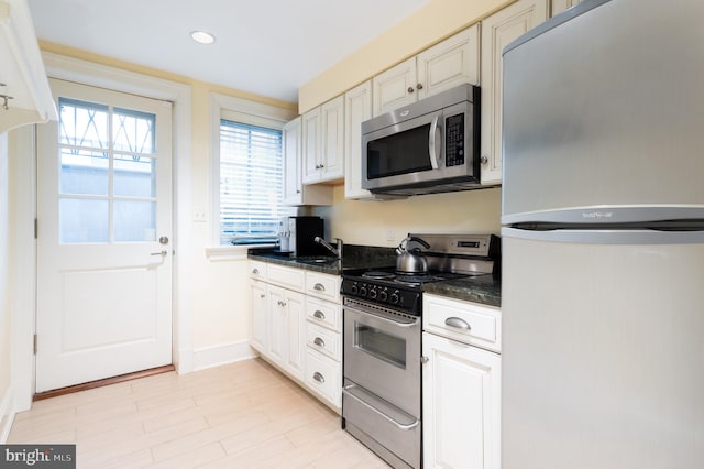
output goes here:
<path id="1" fill-rule="evenodd" d="M 416 241 L 425 250 L 409 247 Z M 409 234 L 422 272 L 396 266 L 342 274 L 342 426 L 394 468 L 421 467 L 422 285 L 497 275 L 493 234 Z"/>

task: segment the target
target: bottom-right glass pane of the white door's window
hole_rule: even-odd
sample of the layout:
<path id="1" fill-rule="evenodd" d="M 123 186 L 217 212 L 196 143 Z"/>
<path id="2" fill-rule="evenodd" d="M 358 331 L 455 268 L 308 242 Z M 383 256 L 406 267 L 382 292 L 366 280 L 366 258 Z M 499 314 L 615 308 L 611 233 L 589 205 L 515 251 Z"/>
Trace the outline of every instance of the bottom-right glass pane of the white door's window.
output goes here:
<path id="1" fill-rule="evenodd" d="M 114 241 L 140 242 L 156 240 L 156 203 L 139 200 L 114 201 Z"/>

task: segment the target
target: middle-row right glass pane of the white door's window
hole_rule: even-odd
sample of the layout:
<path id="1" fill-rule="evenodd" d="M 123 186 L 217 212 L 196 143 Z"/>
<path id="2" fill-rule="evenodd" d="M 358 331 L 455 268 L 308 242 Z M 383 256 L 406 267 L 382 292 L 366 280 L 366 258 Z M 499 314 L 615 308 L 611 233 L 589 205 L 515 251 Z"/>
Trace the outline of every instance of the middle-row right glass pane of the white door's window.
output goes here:
<path id="1" fill-rule="evenodd" d="M 114 195 L 156 197 L 156 160 L 146 156 L 116 155 Z"/>

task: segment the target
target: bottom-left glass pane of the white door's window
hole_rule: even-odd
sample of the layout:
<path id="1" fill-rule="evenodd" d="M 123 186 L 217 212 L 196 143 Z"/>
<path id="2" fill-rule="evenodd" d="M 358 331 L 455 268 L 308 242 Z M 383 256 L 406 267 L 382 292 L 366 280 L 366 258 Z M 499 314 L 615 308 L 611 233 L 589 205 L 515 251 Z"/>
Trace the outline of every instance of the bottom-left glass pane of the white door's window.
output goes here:
<path id="1" fill-rule="evenodd" d="M 59 242 L 108 242 L 108 200 L 63 198 L 58 201 Z"/>

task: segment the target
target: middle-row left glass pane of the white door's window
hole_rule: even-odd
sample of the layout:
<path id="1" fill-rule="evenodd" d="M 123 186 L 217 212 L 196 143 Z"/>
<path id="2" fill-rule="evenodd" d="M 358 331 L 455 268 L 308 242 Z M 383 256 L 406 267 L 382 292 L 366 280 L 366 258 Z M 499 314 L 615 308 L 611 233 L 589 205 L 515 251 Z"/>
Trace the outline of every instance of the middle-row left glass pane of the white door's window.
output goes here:
<path id="1" fill-rule="evenodd" d="M 103 152 L 62 149 L 59 194 L 108 195 L 110 160 Z"/>

